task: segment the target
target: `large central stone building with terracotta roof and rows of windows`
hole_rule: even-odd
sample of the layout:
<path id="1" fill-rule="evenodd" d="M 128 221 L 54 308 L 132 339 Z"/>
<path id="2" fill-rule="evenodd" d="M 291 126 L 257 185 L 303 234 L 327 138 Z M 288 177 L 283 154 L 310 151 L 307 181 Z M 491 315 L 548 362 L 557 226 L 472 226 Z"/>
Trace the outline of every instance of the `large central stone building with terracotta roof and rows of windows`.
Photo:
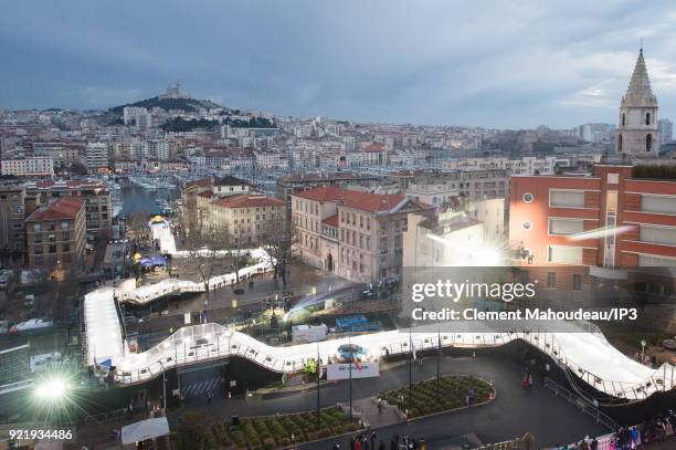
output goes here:
<path id="1" fill-rule="evenodd" d="M 426 205 L 400 195 L 321 186 L 292 195 L 294 250 L 307 264 L 355 282 L 401 275 L 408 216 Z"/>

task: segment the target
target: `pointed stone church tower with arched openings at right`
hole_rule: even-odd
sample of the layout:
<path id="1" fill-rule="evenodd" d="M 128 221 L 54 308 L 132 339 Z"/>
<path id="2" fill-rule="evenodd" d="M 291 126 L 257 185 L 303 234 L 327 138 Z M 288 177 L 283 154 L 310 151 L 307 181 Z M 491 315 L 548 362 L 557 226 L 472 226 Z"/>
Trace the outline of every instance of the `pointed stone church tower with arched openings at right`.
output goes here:
<path id="1" fill-rule="evenodd" d="M 632 79 L 620 102 L 617 153 L 633 155 L 637 158 L 658 156 L 657 109 L 657 97 L 651 88 L 651 79 L 643 57 L 643 45 L 641 45 Z"/>

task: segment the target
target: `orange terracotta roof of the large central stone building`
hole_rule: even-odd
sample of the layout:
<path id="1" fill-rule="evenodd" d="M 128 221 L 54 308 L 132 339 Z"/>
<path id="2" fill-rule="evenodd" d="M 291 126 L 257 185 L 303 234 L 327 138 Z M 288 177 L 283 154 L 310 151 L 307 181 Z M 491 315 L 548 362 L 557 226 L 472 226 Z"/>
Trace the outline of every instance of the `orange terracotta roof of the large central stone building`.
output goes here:
<path id="1" fill-rule="evenodd" d="M 369 193 L 358 190 L 341 189 L 337 186 L 320 186 L 315 189 L 295 193 L 294 196 L 319 202 L 340 201 L 348 208 L 361 209 L 369 212 L 389 211 L 405 199 L 404 196 L 399 195 Z M 426 205 L 419 201 L 410 201 L 420 208 L 424 209 L 426 207 Z"/>

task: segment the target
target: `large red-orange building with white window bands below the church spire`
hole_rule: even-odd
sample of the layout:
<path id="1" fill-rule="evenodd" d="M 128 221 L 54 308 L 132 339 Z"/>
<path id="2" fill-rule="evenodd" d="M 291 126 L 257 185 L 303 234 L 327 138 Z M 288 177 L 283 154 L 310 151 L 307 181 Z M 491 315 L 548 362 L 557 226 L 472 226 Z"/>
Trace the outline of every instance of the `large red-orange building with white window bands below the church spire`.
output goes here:
<path id="1" fill-rule="evenodd" d="M 676 179 L 600 164 L 587 176 L 513 177 L 509 242 L 534 264 L 676 266 Z"/>

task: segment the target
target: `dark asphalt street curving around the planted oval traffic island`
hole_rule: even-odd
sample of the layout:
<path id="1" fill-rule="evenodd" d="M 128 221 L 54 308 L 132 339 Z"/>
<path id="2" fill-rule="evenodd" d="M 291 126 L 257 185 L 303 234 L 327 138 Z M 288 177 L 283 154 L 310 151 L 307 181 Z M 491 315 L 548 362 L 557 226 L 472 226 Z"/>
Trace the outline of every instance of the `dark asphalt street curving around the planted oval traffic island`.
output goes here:
<path id="1" fill-rule="evenodd" d="M 405 425 L 394 425 L 379 430 L 389 437 L 398 432 L 422 437 L 432 447 L 434 442 L 466 433 L 476 433 L 484 442 L 495 442 L 532 432 L 538 444 L 554 444 L 570 442 L 584 435 L 602 435 L 608 432 L 602 426 L 594 423 L 573 406 L 543 387 L 536 386 L 525 391 L 520 387 L 522 366 L 515 360 L 501 356 L 477 356 L 476 358 L 446 357 L 441 364 L 443 374 L 478 375 L 493 380 L 497 389 L 496 400 L 487 406 L 457 412 L 420 419 Z M 436 360 L 427 357 L 422 366 L 414 365 L 413 381 L 433 377 L 436 373 Z M 404 386 L 409 380 L 406 362 L 395 362 L 389 369 L 381 373 L 380 378 L 353 380 L 353 399 L 376 395 L 378 391 Z M 205 396 L 196 397 L 183 409 L 205 409 L 214 417 L 225 419 L 231 415 L 255 416 L 276 412 L 313 410 L 317 401 L 316 389 L 284 395 L 254 396 L 250 398 L 225 399 L 222 396 L 209 404 Z M 326 385 L 320 389 L 321 405 L 331 406 L 336 402 L 348 402 L 348 383 L 342 381 Z M 176 420 L 181 410 L 170 412 Z M 553 426 L 552 426 L 553 425 Z M 330 442 L 304 446 L 308 449 L 327 449 Z M 346 439 L 341 448 L 349 448 Z"/>

